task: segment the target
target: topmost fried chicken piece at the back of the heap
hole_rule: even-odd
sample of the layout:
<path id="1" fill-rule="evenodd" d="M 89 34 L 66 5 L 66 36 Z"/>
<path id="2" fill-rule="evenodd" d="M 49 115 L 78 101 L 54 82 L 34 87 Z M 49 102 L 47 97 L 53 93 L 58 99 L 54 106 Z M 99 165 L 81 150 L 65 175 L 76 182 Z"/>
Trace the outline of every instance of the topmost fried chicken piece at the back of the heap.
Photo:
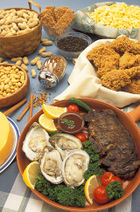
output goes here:
<path id="1" fill-rule="evenodd" d="M 110 45 L 118 53 L 124 53 L 126 51 L 134 53 L 134 47 L 135 47 L 135 52 L 137 52 L 137 49 L 138 49 L 138 46 L 135 43 L 135 41 L 130 40 L 126 36 L 121 36 L 116 38 L 115 40 L 112 41 Z"/>

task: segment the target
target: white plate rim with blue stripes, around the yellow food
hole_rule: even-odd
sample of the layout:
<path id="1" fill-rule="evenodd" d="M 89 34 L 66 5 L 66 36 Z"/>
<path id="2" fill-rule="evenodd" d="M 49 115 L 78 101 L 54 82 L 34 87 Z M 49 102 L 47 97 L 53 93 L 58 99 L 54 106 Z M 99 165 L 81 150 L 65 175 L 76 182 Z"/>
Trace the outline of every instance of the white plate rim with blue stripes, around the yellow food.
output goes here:
<path id="1" fill-rule="evenodd" d="M 13 129 L 13 132 L 14 132 L 14 136 L 15 136 L 15 139 L 14 139 L 14 145 L 13 145 L 13 148 L 12 148 L 12 151 L 9 155 L 9 157 L 6 159 L 6 161 L 0 166 L 0 173 L 2 173 L 6 168 L 8 168 L 8 166 L 13 162 L 13 160 L 15 159 L 16 157 L 16 153 L 17 153 L 17 144 L 18 144 L 18 139 L 19 139 L 19 136 L 20 136 L 20 130 L 17 126 L 17 124 L 10 118 L 7 116 L 7 119 Z"/>

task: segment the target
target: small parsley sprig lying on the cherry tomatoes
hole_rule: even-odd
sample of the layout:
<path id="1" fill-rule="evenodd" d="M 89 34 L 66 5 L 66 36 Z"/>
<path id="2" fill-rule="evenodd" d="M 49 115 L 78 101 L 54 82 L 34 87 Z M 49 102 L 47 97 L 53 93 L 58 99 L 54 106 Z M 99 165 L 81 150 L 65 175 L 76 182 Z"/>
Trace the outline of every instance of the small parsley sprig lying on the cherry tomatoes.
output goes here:
<path id="1" fill-rule="evenodd" d="M 109 199 L 119 199 L 124 195 L 122 185 L 115 180 L 106 187 L 106 194 Z"/>

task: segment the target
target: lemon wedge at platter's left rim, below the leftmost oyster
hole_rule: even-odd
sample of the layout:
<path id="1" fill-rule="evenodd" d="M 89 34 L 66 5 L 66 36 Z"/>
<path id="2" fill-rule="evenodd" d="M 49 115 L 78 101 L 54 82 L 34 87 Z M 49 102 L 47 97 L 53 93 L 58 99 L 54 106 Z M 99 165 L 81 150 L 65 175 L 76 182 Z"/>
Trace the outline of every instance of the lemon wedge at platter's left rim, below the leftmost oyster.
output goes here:
<path id="1" fill-rule="evenodd" d="M 31 188 L 34 189 L 35 187 L 35 180 L 37 178 L 37 176 L 40 173 L 40 166 L 39 166 L 39 162 L 38 161 L 33 161 L 31 163 L 29 163 L 28 166 L 26 166 L 22 178 L 25 182 L 25 184 Z"/>

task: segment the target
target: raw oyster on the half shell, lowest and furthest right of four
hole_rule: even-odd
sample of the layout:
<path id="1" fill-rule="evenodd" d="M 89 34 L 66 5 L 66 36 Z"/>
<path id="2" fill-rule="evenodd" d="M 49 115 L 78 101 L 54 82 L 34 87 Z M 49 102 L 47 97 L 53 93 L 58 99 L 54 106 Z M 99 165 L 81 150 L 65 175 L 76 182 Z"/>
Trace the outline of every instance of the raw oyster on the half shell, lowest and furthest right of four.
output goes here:
<path id="1" fill-rule="evenodd" d="M 88 169 L 89 155 L 83 150 L 74 150 L 63 161 L 62 175 L 65 184 L 80 186 L 84 182 L 84 172 Z"/>

